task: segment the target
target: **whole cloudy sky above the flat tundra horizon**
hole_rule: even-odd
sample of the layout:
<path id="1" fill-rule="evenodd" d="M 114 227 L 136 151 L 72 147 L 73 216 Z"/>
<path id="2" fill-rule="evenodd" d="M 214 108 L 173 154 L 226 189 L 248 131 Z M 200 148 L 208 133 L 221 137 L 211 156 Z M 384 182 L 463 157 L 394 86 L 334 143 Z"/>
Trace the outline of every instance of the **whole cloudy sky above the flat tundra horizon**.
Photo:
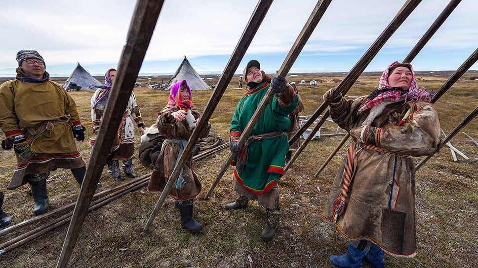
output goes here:
<path id="1" fill-rule="evenodd" d="M 349 71 L 404 2 L 332 0 L 290 72 Z M 200 74 L 221 74 L 256 3 L 165 0 L 140 75 L 172 74 L 184 56 Z M 250 59 L 275 72 L 316 3 L 274 1 L 237 72 Z M 405 58 L 447 3 L 422 0 L 365 71 L 382 71 Z M 134 6 L 134 0 L 1 1 L 0 76 L 14 76 L 20 49 L 39 51 L 52 76 L 69 76 L 77 62 L 102 75 L 118 65 Z M 477 49 L 477 12 L 478 1 L 463 0 L 412 62 L 414 68 L 458 68 Z"/>

